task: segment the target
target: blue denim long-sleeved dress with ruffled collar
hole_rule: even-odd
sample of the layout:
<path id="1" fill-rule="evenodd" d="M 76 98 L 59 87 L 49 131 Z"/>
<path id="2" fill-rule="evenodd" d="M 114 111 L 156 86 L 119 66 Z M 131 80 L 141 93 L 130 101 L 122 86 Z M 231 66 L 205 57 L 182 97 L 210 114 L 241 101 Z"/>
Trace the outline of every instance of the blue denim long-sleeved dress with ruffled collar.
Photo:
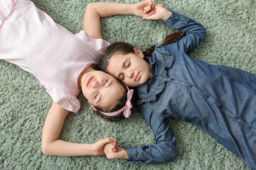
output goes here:
<path id="1" fill-rule="evenodd" d="M 137 87 L 137 105 L 156 143 L 128 148 L 128 161 L 174 160 L 176 140 L 166 118 L 177 118 L 193 123 L 256 169 L 256 76 L 188 57 L 205 28 L 174 11 L 164 22 L 186 35 L 170 45 L 156 45 L 153 57 L 146 57 L 153 77 Z"/>

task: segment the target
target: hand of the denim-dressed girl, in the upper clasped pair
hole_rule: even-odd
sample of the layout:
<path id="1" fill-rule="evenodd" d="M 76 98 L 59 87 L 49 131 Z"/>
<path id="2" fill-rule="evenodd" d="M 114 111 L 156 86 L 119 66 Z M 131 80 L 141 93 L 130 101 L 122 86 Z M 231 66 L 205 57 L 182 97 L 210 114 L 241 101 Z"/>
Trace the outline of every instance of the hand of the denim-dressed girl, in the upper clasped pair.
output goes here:
<path id="1" fill-rule="evenodd" d="M 166 10 L 161 5 L 155 5 L 154 8 L 151 8 L 150 13 L 145 13 L 142 19 L 150 19 L 150 20 L 166 20 L 171 16 L 171 11 Z"/>

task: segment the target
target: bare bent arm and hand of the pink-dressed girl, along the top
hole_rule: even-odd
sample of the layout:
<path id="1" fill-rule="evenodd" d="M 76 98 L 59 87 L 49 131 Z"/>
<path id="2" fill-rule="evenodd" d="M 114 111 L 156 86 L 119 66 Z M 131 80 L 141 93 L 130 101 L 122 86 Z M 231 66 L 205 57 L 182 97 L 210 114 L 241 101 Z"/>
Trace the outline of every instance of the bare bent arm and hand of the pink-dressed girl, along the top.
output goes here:
<path id="1" fill-rule="evenodd" d="M 150 16 L 154 1 L 146 0 L 137 4 L 118 4 L 109 2 L 95 2 L 87 5 L 83 21 L 83 29 L 91 38 L 102 38 L 100 32 L 100 18 L 114 15 Z"/>

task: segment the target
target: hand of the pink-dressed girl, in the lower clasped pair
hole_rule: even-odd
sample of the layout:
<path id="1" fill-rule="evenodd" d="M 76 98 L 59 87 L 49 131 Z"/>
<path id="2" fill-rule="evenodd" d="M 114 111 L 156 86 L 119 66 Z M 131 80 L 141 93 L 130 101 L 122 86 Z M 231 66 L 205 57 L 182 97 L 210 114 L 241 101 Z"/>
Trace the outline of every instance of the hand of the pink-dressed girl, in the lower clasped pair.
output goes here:
<path id="1" fill-rule="evenodd" d="M 114 138 L 105 137 L 102 140 L 99 140 L 98 142 L 92 144 L 92 155 L 104 154 L 103 147 L 107 144 L 113 145 L 113 152 L 116 151 L 115 145 L 117 144 L 117 141 Z"/>

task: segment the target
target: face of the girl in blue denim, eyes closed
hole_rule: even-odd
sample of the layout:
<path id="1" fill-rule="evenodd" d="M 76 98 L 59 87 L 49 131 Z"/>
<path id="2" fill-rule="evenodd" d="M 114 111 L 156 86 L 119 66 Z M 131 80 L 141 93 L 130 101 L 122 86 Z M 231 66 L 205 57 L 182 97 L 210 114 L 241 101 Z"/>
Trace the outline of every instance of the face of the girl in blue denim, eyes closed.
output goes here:
<path id="1" fill-rule="evenodd" d="M 143 57 L 137 47 L 134 47 L 134 53 L 128 55 L 117 52 L 110 58 L 107 72 L 127 86 L 140 86 L 152 77 L 150 64 Z"/>

